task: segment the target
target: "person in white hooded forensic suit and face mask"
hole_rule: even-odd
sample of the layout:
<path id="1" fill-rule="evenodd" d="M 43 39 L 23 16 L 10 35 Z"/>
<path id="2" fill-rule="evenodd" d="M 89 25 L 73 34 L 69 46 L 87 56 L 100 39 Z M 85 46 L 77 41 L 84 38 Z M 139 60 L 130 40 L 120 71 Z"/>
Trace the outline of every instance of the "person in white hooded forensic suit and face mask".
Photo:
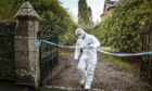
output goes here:
<path id="1" fill-rule="evenodd" d="M 78 63 L 77 69 L 81 78 L 80 86 L 87 91 L 91 88 L 97 64 L 97 48 L 100 47 L 100 42 L 94 36 L 85 32 L 83 28 L 77 28 L 75 34 L 78 39 L 74 60 Z M 81 50 L 83 53 L 80 53 Z"/>

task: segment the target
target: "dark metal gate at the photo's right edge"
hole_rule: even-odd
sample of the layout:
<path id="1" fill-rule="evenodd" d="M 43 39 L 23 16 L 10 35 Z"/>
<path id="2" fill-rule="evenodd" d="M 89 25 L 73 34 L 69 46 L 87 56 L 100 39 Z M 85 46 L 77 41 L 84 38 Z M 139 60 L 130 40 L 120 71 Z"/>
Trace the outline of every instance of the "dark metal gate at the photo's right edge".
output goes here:
<path id="1" fill-rule="evenodd" d="M 142 51 L 152 51 L 152 31 L 151 26 L 142 32 Z M 152 80 L 152 55 L 144 55 L 141 60 L 140 78 L 142 80 Z"/>

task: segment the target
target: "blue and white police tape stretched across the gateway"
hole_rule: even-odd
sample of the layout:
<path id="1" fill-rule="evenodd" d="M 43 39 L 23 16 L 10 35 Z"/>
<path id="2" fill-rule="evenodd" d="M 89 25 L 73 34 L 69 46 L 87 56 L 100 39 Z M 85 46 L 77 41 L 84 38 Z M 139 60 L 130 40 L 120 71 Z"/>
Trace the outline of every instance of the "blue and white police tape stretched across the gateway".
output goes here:
<path id="1" fill-rule="evenodd" d="M 74 49 L 74 48 L 81 48 L 81 46 L 62 46 L 62 44 L 56 44 L 54 42 L 50 42 L 50 41 L 46 41 L 46 40 L 40 40 L 38 42 L 38 44 L 40 46 L 41 42 L 48 43 L 48 44 L 52 44 L 52 46 L 56 46 L 60 48 L 68 48 L 68 49 Z M 37 46 L 37 47 L 39 47 Z M 104 54 L 109 54 L 109 55 L 114 55 L 114 56 L 139 56 L 139 55 L 152 55 L 152 51 L 149 52 L 140 52 L 140 53 L 112 53 L 112 52 L 106 52 L 101 48 L 97 49 L 98 52 L 104 53 Z"/>

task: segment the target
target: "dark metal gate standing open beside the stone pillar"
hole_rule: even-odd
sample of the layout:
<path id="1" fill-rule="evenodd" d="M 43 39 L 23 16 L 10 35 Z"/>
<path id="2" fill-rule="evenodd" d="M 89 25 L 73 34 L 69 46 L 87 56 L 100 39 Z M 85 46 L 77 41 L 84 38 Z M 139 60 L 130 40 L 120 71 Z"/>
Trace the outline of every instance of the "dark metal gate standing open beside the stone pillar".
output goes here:
<path id="1" fill-rule="evenodd" d="M 38 39 L 58 43 L 58 35 L 53 30 L 41 30 L 38 32 Z M 47 82 L 48 77 L 58 65 L 58 47 L 41 42 L 39 49 L 40 60 L 40 86 Z"/>

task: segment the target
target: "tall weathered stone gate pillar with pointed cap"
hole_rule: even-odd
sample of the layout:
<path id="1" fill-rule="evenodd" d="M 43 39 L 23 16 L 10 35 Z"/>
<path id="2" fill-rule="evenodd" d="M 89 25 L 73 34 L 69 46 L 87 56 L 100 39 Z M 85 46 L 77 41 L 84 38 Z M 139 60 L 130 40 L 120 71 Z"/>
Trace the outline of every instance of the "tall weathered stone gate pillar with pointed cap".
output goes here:
<path id="1" fill-rule="evenodd" d="M 36 50 L 38 18 L 29 2 L 24 2 L 15 14 L 15 66 L 16 83 L 38 87 L 39 60 Z"/>

